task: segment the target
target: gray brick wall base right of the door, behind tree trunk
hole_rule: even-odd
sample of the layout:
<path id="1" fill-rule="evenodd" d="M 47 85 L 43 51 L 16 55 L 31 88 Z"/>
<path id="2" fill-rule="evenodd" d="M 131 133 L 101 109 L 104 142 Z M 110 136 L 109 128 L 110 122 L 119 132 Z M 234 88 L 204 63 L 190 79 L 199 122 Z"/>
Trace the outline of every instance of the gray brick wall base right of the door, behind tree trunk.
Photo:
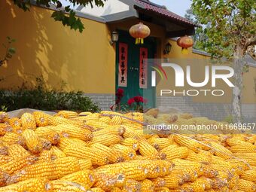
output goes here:
<path id="1" fill-rule="evenodd" d="M 174 108 L 195 117 L 209 117 L 212 120 L 224 120 L 231 114 L 230 103 L 193 102 L 191 97 L 160 96 L 157 97 L 157 108 Z M 245 122 L 256 122 L 256 104 L 243 104 L 242 116 Z"/>

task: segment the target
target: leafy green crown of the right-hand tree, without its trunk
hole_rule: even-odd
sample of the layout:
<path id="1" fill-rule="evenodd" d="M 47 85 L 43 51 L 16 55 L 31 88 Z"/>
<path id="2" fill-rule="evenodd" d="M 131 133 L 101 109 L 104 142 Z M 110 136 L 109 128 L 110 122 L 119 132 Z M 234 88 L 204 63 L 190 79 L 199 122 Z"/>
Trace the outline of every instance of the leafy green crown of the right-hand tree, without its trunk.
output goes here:
<path id="1" fill-rule="evenodd" d="M 213 56 L 233 56 L 256 43 L 255 0 L 193 0 L 192 11 L 203 26 L 207 41 L 201 45 Z"/>

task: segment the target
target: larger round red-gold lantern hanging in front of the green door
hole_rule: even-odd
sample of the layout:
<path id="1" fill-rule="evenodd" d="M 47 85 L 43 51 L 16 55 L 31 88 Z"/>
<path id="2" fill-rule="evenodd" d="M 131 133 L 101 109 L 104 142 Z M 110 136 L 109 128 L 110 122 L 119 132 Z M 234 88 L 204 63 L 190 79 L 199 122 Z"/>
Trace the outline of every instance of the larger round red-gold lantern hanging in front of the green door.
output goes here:
<path id="1" fill-rule="evenodd" d="M 151 34 L 149 27 L 145 26 L 143 23 L 132 26 L 129 32 L 133 38 L 136 38 L 136 44 L 143 44 L 144 38 L 147 38 Z"/>

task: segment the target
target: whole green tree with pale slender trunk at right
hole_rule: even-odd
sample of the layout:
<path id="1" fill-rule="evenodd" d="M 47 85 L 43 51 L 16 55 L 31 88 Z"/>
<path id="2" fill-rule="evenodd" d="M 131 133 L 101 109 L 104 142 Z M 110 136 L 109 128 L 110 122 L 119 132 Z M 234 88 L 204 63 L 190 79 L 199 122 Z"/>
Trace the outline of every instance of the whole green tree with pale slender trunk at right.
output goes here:
<path id="1" fill-rule="evenodd" d="M 243 57 L 256 44 L 255 0 L 193 0 L 192 11 L 208 41 L 203 42 L 212 56 L 233 59 L 234 85 L 232 116 L 241 122 Z"/>

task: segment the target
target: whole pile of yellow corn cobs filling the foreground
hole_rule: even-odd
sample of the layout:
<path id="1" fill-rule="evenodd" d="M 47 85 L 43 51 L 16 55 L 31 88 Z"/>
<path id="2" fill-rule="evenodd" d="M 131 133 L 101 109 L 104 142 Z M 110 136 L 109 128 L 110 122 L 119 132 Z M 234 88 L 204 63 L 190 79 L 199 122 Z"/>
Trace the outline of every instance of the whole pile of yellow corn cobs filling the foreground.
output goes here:
<path id="1" fill-rule="evenodd" d="M 253 134 L 145 134 L 190 114 L 0 112 L 0 192 L 256 191 Z"/>

